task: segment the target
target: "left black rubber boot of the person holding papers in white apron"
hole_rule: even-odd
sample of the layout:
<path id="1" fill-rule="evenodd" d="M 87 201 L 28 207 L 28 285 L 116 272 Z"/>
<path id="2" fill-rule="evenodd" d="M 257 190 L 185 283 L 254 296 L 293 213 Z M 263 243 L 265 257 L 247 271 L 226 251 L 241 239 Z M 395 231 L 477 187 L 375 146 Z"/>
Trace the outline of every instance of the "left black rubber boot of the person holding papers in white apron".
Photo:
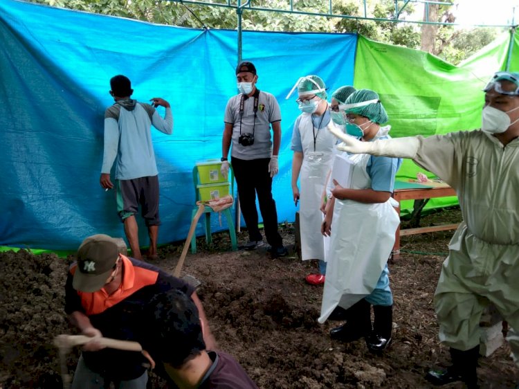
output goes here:
<path id="1" fill-rule="evenodd" d="M 371 334 L 371 305 L 365 299 L 346 309 L 345 316 L 345 325 L 330 330 L 332 339 L 349 343 Z"/>

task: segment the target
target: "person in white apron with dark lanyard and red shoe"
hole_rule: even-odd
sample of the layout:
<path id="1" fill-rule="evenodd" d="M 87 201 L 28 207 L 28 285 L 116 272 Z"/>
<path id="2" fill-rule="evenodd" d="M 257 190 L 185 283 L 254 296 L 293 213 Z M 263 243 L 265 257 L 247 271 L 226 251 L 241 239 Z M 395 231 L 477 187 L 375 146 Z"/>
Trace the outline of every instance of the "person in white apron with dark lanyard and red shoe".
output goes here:
<path id="1" fill-rule="evenodd" d="M 300 78 L 296 85 L 296 102 L 301 114 L 295 119 L 290 147 L 293 151 L 292 194 L 296 206 L 300 201 L 301 259 L 318 260 L 319 264 L 319 273 L 309 274 L 305 280 L 311 285 L 322 285 L 325 283 L 325 246 L 329 243 L 329 237 L 320 235 L 320 208 L 327 174 L 331 169 L 338 141 L 326 130 L 331 114 L 326 100 L 325 82 L 317 75 L 307 75 Z M 353 87 L 347 88 L 349 89 L 340 89 L 340 92 L 349 96 L 355 91 Z M 343 102 L 347 96 L 342 96 Z"/>

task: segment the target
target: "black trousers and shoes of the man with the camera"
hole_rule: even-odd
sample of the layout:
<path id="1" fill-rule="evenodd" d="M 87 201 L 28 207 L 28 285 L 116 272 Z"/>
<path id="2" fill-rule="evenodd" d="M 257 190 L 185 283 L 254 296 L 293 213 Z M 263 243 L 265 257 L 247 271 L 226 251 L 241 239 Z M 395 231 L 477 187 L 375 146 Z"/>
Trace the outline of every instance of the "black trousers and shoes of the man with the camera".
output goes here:
<path id="1" fill-rule="evenodd" d="M 265 237 L 268 244 L 273 247 L 283 245 L 281 235 L 277 232 L 277 210 L 272 197 L 272 178 L 268 172 L 270 158 L 230 159 L 233 164 L 236 184 L 238 186 L 239 208 L 244 215 L 248 236 L 251 240 L 262 240 L 260 229 L 257 228 L 258 218 L 256 210 L 257 201 L 262 212 Z"/>

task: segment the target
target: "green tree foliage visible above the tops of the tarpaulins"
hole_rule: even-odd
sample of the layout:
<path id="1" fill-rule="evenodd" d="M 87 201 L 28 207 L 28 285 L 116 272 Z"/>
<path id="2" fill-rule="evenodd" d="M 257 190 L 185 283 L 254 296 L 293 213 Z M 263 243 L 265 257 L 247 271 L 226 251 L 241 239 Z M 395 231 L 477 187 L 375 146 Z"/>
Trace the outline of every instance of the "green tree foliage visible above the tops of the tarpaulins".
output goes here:
<path id="1" fill-rule="evenodd" d="M 86 12 L 127 17 L 157 24 L 170 24 L 192 28 L 237 28 L 237 12 L 224 6 L 183 4 L 165 0 L 32 0 L 49 6 L 70 8 Z M 225 4 L 225 0 L 213 1 Z M 242 0 L 245 3 L 245 0 Z M 234 0 L 233 4 L 236 4 Z M 255 0 L 255 8 L 290 11 L 289 0 Z M 437 21 L 452 23 L 450 6 L 430 4 L 430 16 Z M 378 42 L 397 44 L 409 48 L 427 50 L 448 62 L 457 64 L 469 55 L 489 44 L 498 34 L 492 28 L 455 30 L 453 26 L 395 23 L 383 20 L 352 19 L 348 17 L 320 17 L 290 12 L 257 11 L 244 8 L 242 28 L 245 30 L 308 31 L 325 33 L 358 33 Z M 327 13 L 327 0 L 293 0 L 296 12 Z M 367 0 L 367 16 L 376 19 L 395 17 L 394 0 Z M 364 6 L 359 0 L 333 0 L 334 15 L 363 17 Z M 409 17 L 414 9 L 408 5 L 399 15 L 400 20 Z M 424 47 L 424 39 L 429 44 Z"/>

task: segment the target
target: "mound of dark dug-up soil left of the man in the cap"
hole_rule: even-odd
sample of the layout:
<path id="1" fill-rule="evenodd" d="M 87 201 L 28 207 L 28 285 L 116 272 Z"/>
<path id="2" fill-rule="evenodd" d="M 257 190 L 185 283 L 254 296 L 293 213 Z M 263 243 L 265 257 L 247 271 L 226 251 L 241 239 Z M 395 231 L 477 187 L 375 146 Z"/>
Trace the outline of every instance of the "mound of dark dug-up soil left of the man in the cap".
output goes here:
<path id="1" fill-rule="evenodd" d="M 62 386 L 52 342 L 71 331 L 63 311 L 67 269 L 53 254 L 0 253 L 1 388 Z"/>

